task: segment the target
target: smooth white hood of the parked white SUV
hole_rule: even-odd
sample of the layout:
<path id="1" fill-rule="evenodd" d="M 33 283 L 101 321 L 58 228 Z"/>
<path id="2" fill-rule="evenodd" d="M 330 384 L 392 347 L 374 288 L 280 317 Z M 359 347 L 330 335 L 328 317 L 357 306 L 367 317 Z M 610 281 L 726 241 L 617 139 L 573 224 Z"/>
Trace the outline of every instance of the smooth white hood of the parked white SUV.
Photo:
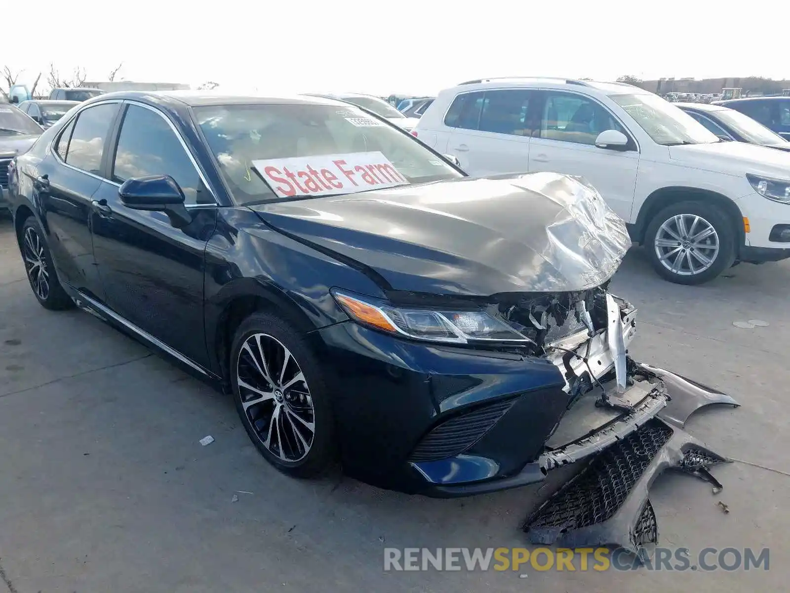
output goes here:
<path id="1" fill-rule="evenodd" d="M 713 142 L 669 146 L 673 161 L 683 161 L 694 168 L 704 168 L 728 175 L 757 173 L 788 179 L 790 153 L 746 142 Z"/>

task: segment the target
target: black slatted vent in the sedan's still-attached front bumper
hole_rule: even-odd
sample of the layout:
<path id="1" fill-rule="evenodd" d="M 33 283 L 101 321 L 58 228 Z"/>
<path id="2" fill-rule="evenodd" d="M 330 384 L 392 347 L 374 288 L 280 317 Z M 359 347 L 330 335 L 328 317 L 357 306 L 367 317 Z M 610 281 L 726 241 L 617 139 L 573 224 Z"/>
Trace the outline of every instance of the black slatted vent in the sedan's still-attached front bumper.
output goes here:
<path id="1" fill-rule="evenodd" d="M 443 421 L 423 436 L 409 461 L 436 461 L 466 451 L 510 410 L 515 401 L 515 398 L 499 400 Z"/>

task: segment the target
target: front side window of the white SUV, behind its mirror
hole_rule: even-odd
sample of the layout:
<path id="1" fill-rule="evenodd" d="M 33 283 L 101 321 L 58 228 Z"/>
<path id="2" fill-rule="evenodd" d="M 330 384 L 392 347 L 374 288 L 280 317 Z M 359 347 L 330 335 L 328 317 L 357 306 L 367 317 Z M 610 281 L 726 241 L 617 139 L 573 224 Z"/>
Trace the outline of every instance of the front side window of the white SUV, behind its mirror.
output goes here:
<path id="1" fill-rule="evenodd" d="M 540 138 L 595 144 L 598 134 L 606 130 L 625 130 L 595 100 L 574 93 L 548 91 L 540 118 Z"/>

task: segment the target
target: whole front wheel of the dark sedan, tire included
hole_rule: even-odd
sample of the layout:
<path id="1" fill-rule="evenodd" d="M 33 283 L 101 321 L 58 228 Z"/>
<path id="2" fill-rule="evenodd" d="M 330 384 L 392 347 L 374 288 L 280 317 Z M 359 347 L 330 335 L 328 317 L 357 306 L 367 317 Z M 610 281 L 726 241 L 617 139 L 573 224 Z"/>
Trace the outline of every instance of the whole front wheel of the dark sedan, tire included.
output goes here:
<path id="1" fill-rule="evenodd" d="M 230 372 L 244 429 L 269 463 L 295 478 L 333 466 L 325 371 L 299 330 L 271 313 L 253 313 L 236 330 Z"/>

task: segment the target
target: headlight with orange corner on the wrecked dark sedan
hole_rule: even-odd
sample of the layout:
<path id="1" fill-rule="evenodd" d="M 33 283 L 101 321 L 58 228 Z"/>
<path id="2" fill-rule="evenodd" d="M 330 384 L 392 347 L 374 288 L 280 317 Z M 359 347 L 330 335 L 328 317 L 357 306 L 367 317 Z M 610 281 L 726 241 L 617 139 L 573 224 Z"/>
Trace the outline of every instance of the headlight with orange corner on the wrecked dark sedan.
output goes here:
<path id="1" fill-rule="evenodd" d="M 470 344 L 506 342 L 534 344 L 501 319 L 483 311 L 447 311 L 395 306 L 369 296 L 332 291 L 335 300 L 355 322 L 389 334 L 428 342 Z"/>

